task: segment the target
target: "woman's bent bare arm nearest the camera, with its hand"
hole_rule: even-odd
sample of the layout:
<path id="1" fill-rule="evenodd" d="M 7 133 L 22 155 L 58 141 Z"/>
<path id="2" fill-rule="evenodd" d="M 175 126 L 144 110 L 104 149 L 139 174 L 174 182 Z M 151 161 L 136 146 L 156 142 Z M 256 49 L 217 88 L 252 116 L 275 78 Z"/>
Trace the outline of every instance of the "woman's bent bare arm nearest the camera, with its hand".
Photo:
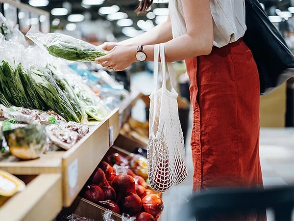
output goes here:
<path id="1" fill-rule="evenodd" d="M 213 25 L 209 0 L 182 0 L 187 33 L 172 39 L 171 28 L 168 37 L 161 31 L 164 25 L 160 25 L 152 36 L 152 32 L 142 34 L 139 37 L 124 41 L 124 46 L 116 46 L 108 55 L 96 58 L 102 66 L 112 66 L 117 70 L 123 70 L 131 63 L 136 62 L 136 49 L 139 44 L 145 44 L 144 52 L 148 61 L 153 61 L 154 44 L 168 40 L 165 46 L 166 62 L 184 60 L 198 55 L 207 55 L 211 52 L 213 45 Z M 170 25 L 170 20 L 165 24 Z M 158 29 L 157 29 L 158 28 Z M 150 34 L 151 33 L 151 34 Z M 143 37 L 142 37 L 143 36 Z M 146 37 L 144 37 L 146 36 Z M 150 39 L 148 39 L 150 37 Z M 158 38 L 158 39 L 157 39 Z M 133 42 L 133 40 L 135 40 Z M 148 44 L 150 43 L 150 44 Z M 130 46 L 125 46 L 129 45 Z"/>

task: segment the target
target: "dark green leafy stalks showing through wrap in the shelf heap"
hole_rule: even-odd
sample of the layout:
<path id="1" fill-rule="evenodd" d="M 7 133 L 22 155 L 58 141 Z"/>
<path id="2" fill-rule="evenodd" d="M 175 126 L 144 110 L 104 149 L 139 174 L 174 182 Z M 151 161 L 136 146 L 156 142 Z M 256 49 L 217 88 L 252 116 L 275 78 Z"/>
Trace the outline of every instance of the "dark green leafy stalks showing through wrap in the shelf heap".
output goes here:
<path id="1" fill-rule="evenodd" d="M 70 95 L 62 91 L 52 78 L 52 73 L 45 70 L 31 66 L 30 70 L 25 71 L 21 64 L 12 68 L 6 61 L 2 61 L 0 93 L 13 106 L 43 111 L 52 109 L 67 121 L 81 122 L 84 114 L 78 101 L 74 101 L 73 107 L 75 98 L 69 101 Z"/>

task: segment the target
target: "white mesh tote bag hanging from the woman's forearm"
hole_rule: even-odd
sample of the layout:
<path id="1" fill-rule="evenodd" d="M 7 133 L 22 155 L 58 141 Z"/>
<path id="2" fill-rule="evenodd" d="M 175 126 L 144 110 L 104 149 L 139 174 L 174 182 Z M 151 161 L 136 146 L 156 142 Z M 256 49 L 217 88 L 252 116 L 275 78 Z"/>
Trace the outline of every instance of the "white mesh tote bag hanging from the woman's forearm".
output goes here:
<path id="1" fill-rule="evenodd" d="M 154 87 L 150 94 L 149 139 L 147 146 L 148 178 L 157 192 L 165 192 L 187 176 L 185 145 L 180 125 L 172 63 L 168 63 L 171 91 L 167 89 L 165 44 L 154 47 Z M 157 89 L 160 55 L 161 88 Z"/>

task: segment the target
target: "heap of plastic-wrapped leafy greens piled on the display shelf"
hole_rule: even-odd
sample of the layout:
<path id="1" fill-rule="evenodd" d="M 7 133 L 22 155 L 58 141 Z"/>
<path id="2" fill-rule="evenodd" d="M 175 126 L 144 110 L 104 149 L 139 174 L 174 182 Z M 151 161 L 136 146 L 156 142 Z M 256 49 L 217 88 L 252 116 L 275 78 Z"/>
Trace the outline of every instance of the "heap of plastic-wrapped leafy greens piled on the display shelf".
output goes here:
<path id="1" fill-rule="evenodd" d="M 111 110 L 77 78 L 67 61 L 44 55 L 35 45 L 25 47 L 16 38 L 10 42 L 1 36 L 0 51 L 9 54 L 0 53 L 0 103 L 7 107 L 51 109 L 67 121 L 85 124 L 109 115 Z"/>

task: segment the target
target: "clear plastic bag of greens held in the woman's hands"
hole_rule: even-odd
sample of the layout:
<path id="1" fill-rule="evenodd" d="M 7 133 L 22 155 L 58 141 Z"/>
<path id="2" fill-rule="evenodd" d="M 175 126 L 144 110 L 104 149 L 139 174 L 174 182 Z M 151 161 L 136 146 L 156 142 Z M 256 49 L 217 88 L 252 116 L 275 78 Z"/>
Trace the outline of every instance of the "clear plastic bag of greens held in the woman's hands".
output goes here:
<path id="1" fill-rule="evenodd" d="M 106 55 L 106 51 L 96 45 L 62 33 L 44 34 L 35 26 L 32 26 L 25 36 L 46 49 L 50 55 L 70 61 L 88 62 L 94 61 L 95 57 Z"/>

